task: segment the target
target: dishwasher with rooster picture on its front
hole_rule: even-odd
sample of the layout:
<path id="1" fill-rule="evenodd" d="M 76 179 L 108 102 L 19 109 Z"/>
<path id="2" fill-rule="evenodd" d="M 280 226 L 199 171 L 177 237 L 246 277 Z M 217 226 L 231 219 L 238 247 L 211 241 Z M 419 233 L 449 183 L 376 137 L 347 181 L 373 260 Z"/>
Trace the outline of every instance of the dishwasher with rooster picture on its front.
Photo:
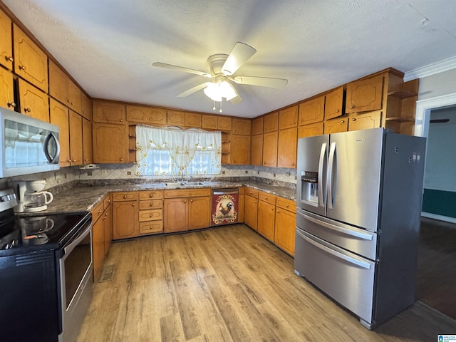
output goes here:
<path id="1" fill-rule="evenodd" d="M 211 226 L 237 223 L 238 208 L 237 188 L 213 189 Z"/>

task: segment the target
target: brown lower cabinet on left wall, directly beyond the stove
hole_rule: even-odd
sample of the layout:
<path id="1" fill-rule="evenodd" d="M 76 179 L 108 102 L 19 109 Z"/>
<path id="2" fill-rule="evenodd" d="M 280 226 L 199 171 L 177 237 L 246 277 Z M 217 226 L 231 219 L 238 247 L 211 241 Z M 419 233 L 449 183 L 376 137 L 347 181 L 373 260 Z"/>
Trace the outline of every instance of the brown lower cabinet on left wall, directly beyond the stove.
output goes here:
<path id="1" fill-rule="evenodd" d="M 98 281 L 113 239 L 113 207 L 110 198 L 110 194 L 106 195 L 103 202 L 92 210 L 93 281 Z"/>

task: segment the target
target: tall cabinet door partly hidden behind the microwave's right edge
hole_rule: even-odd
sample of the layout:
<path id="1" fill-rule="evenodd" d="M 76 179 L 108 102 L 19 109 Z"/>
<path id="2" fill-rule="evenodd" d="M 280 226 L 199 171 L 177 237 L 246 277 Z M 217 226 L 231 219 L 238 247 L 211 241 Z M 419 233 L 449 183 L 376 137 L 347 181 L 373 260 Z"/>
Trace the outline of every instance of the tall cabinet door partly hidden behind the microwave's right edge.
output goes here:
<path id="1" fill-rule="evenodd" d="M 68 108 L 60 102 L 49 99 L 49 116 L 51 123 L 58 126 L 58 141 L 60 142 L 60 166 L 70 166 L 70 118 Z M 90 132 L 90 135 L 92 133 Z"/>

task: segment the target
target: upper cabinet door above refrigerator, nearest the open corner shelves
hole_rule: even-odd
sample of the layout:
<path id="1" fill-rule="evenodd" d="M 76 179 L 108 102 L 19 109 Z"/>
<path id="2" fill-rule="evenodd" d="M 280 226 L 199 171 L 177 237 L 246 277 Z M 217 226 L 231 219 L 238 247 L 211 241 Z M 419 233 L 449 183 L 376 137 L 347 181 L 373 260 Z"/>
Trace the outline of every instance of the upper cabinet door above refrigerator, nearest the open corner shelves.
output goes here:
<path id="1" fill-rule="evenodd" d="M 382 109 L 383 76 L 375 76 L 347 84 L 346 113 Z"/>

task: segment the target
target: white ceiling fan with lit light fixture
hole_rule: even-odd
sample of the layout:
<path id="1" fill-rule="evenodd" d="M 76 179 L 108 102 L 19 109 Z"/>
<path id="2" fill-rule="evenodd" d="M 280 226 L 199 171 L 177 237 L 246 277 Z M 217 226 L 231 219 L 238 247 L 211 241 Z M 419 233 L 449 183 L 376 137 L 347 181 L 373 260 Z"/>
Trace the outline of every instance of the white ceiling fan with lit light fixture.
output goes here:
<path id="1" fill-rule="evenodd" d="M 177 97 L 183 98 L 188 95 L 196 93 L 198 90 L 204 89 L 204 93 L 214 100 L 215 102 L 222 103 L 222 99 L 229 100 L 232 104 L 242 102 L 242 98 L 234 88 L 232 83 L 244 84 L 249 86 L 262 86 L 269 88 L 283 88 L 286 86 L 288 81 L 284 78 L 270 78 L 270 77 L 258 77 L 258 76 L 234 76 L 237 69 L 239 69 L 245 62 L 251 58 L 257 50 L 246 43 L 238 41 L 234 44 L 232 51 L 229 55 L 224 53 L 217 53 L 207 58 L 210 72 L 199 71 L 191 68 L 185 68 L 182 66 L 173 66 L 172 64 L 155 62 L 152 66 L 157 68 L 167 68 L 175 71 L 182 71 L 184 73 L 193 73 L 198 76 L 211 78 L 212 81 L 207 81 L 199 84 L 189 90 L 185 90 L 183 93 L 177 95 Z M 222 108 L 220 108 L 222 113 Z"/>

